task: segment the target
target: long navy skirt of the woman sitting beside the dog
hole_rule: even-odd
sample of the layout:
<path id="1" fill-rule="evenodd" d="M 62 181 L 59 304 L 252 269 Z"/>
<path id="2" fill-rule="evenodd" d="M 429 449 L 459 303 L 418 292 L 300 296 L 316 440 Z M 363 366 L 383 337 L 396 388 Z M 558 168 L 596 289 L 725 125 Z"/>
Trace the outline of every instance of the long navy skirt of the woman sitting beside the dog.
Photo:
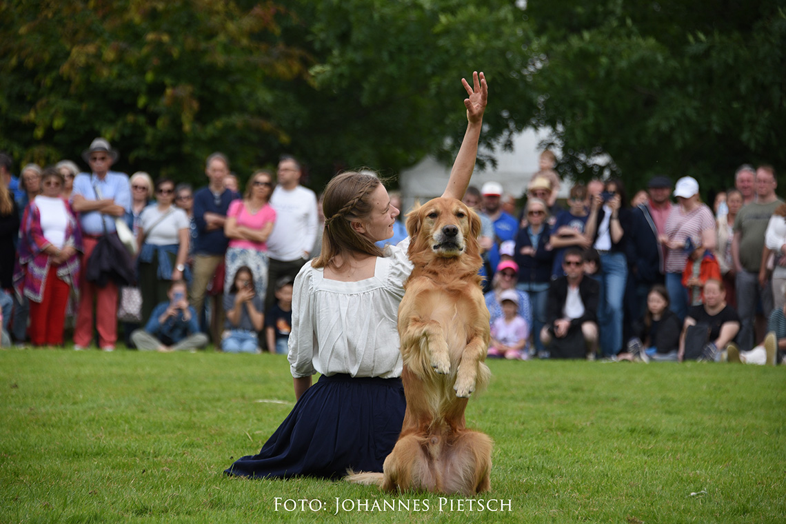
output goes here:
<path id="1" fill-rule="evenodd" d="M 321 376 L 265 442 L 225 471 L 250 478 L 340 478 L 382 471 L 399 439 L 406 400 L 401 379 Z"/>

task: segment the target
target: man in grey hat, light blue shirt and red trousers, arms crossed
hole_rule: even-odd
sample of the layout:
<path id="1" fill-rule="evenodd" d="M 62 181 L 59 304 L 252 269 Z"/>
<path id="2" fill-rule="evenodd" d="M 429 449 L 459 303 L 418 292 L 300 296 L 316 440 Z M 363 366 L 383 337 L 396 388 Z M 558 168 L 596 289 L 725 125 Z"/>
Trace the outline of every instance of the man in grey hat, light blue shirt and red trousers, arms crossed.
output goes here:
<path id="1" fill-rule="evenodd" d="M 93 308 L 96 307 L 96 328 L 101 350 L 112 351 L 117 341 L 117 296 L 114 282 L 104 288 L 86 279 L 87 260 L 98 239 L 115 232 L 113 217 L 123 217 L 131 207 L 128 176 L 110 171 L 118 153 L 104 138 L 96 138 L 82 153 L 91 174 L 80 173 L 74 180 L 73 210 L 79 213 L 83 233 L 83 264 L 79 276 L 79 307 L 76 313 L 74 349 L 83 350 L 93 338 Z"/>

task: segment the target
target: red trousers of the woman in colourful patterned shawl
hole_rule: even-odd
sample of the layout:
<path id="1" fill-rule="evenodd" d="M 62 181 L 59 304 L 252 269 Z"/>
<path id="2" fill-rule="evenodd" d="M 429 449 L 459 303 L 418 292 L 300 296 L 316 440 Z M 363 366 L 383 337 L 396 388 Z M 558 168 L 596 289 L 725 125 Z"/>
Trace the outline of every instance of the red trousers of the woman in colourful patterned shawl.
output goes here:
<path id="1" fill-rule="evenodd" d="M 28 335 L 33 346 L 62 345 L 65 306 L 70 293 L 71 286 L 57 277 L 57 266 L 50 264 L 41 303 L 30 301 Z"/>

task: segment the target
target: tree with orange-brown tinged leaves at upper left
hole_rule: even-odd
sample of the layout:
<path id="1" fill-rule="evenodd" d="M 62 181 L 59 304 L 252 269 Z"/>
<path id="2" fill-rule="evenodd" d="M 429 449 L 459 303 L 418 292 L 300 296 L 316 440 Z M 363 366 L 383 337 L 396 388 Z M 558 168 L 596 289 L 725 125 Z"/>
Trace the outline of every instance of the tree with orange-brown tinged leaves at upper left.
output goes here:
<path id="1" fill-rule="evenodd" d="M 288 140 L 271 80 L 307 78 L 272 3 L 77 0 L 0 4 L 0 141 L 22 162 L 79 159 L 96 136 L 119 168 L 202 181 Z"/>

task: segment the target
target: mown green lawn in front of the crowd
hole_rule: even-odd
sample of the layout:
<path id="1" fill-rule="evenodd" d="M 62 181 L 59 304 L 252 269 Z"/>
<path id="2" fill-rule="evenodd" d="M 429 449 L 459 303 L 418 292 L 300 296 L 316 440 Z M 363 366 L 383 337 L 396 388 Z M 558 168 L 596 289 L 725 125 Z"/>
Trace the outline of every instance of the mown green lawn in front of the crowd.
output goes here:
<path id="1" fill-rule="evenodd" d="M 222 475 L 292 408 L 285 357 L 2 350 L 0 522 L 786 522 L 786 368 L 489 364 L 481 509 Z"/>

